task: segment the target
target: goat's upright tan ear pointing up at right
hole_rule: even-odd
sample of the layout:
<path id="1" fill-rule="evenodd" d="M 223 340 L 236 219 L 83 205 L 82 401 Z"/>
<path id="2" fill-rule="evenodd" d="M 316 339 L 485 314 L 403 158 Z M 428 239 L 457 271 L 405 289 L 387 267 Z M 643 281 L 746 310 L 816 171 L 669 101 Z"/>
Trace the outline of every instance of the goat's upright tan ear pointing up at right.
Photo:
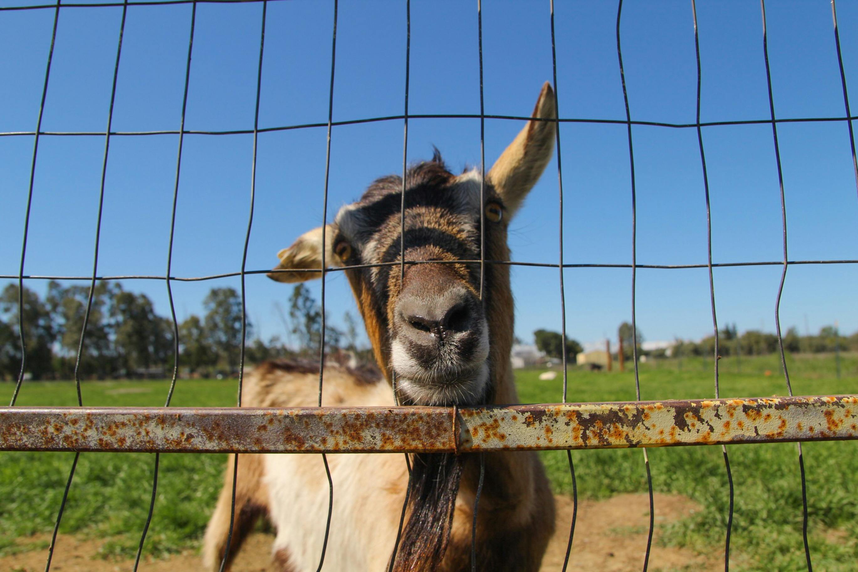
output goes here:
<path id="1" fill-rule="evenodd" d="M 542 86 L 530 117 L 557 118 L 554 91 L 547 81 Z M 515 214 L 522 205 L 524 197 L 539 180 L 551 160 L 554 151 L 554 129 L 556 124 L 553 121 L 531 119 L 486 174 L 486 178 L 504 201 L 509 214 Z"/>

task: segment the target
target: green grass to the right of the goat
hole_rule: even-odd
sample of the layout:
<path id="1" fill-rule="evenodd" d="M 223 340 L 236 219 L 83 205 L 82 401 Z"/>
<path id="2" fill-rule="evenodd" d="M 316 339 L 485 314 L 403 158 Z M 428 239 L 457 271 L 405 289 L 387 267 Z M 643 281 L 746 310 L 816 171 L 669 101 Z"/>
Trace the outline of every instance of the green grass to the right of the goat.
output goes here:
<path id="1" fill-rule="evenodd" d="M 644 400 L 692 399 L 715 394 L 712 360 L 704 370 L 702 358 L 669 364 L 641 364 Z M 726 362 L 726 363 L 725 363 Z M 787 394 L 779 358 L 742 358 L 743 373 L 722 360 L 722 397 Z M 614 364 L 616 365 L 616 364 Z M 669 367 L 668 367 L 669 365 Z M 858 393 L 858 359 L 842 356 L 843 377 L 835 375 L 833 356 L 788 358 L 794 394 Z M 771 375 L 765 376 L 765 370 Z M 762 372 L 745 373 L 745 371 Z M 562 397 L 562 378 L 541 381 L 539 371 L 517 375 L 525 402 L 556 401 Z M 634 400 L 631 371 L 604 373 L 570 370 L 568 400 Z M 858 558 L 858 455 L 856 443 L 805 443 L 810 548 L 816 569 L 852 570 Z M 662 538 L 671 545 L 704 552 L 722 550 L 727 529 L 729 488 L 720 447 L 649 449 L 655 491 L 691 497 L 704 509 L 668 525 Z M 734 521 L 731 569 L 807 569 L 801 536 L 801 480 L 794 443 L 766 443 L 728 447 L 734 479 Z M 554 491 L 571 495 L 571 475 L 565 452 L 541 453 Z M 641 451 L 593 450 L 572 453 L 580 497 L 606 498 L 622 492 L 646 492 Z M 656 515 L 658 505 L 656 504 Z"/>

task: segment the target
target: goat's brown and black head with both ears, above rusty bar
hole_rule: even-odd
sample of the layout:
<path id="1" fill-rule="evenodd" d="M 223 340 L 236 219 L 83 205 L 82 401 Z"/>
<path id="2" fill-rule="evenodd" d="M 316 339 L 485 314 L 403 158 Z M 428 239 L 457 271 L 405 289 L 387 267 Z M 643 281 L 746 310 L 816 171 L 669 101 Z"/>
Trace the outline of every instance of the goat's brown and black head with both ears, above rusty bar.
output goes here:
<path id="1" fill-rule="evenodd" d="M 509 260 L 506 228 L 551 158 L 555 116 L 546 83 L 533 119 L 486 173 L 485 184 L 477 171 L 453 175 L 436 152 L 408 170 L 404 185 L 396 176 L 378 179 L 333 223 L 281 250 L 269 277 L 317 278 L 319 272 L 288 270 L 321 268 L 323 248 L 326 264 L 363 267 L 346 273 L 378 363 L 396 376 L 402 400 L 491 400 L 492 364 L 508 361 L 511 347 L 509 269 L 487 263 L 481 275 L 473 261 L 480 260 L 481 243 L 486 261 Z"/>

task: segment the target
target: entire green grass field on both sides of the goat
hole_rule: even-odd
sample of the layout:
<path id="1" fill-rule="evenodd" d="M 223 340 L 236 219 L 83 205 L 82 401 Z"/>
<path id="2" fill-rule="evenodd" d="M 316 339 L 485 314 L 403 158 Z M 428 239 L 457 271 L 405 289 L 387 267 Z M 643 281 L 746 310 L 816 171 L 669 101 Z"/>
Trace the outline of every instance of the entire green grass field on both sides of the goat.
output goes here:
<path id="1" fill-rule="evenodd" d="M 712 361 L 675 360 L 641 364 L 644 400 L 689 399 L 715 394 Z M 835 376 L 833 356 L 797 356 L 788 367 L 795 394 L 858 393 L 858 356 L 842 356 L 843 376 Z M 722 360 L 722 397 L 786 394 L 775 356 L 742 358 L 742 373 Z M 770 376 L 764 375 L 766 370 Z M 524 402 L 556 402 L 562 376 L 540 381 L 540 370 L 521 370 L 517 383 Z M 83 384 L 84 404 L 160 406 L 168 382 L 116 381 Z M 173 406 L 229 406 L 234 380 L 179 380 Z M 12 385 L 0 386 L 7 400 Z M 5 396 L 4 396 L 5 395 Z M 630 371 L 570 370 L 570 401 L 633 400 Z M 18 405 L 71 406 L 70 382 L 27 382 Z M 649 449 L 656 491 L 686 495 L 703 510 L 667 525 L 663 538 L 674 545 L 710 553 L 721 551 L 728 516 L 728 480 L 720 447 Z M 801 484 L 795 444 L 735 445 L 728 448 L 735 510 L 734 570 L 804 569 L 801 541 Z M 571 495 L 565 452 L 542 453 L 554 490 Z M 21 550 L 15 539 L 50 532 L 63 495 L 73 454 L 0 453 L 0 555 Z M 852 570 L 858 558 L 858 455 L 856 443 L 806 443 L 810 543 L 816 569 Z M 577 490 L 583 498 L 645 492 L 643 453 L 638 450 L 575 451 Z M 146 552 L 166 555 L 199 543 L 221 487 L 225 455 L 161 455 L 157 503 Z M 63 515 L 62 533 L 106 539 L 104 557 L 136 551 L 151 496 L 154 455 L 82 454 Z M 656 504 L 656 522 L 658 505 Z M 622 523 L 618 523 L 621 527 Z M 131 532 L 129 532 L 131 531 Z"/>

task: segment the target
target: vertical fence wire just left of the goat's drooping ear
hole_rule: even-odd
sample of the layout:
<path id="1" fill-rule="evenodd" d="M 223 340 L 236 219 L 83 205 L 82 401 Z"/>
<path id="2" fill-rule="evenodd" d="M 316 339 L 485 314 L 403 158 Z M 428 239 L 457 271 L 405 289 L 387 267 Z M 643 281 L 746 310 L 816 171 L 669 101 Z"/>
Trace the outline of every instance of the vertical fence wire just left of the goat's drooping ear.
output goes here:
<path id="1" fill-rule="evenodd" d="M 251 199 L 249 214 L 247 217 L 247 231 L 245 232 L 245 246 L 241 255 L 241 352 L 239 353 L 239 390 L 238 390 L 238 406 L 241 406 L 241 393 L 245 381 L 245 349 L 247 340 L 247 296 L 245 289 L 245 269 L 247 264 L 247 249 L 251 241 L 251 229 L 253 227 L 253 207 L 256 202 L 257 191 L 257 140 L 259 137 L 259 99 L 262 92 L 263 81 L 263 54 L 265 51 L 265 18 L 268 12 L 268 2 L 263 0 L 263 17 L 262 26 L 259 32 L 259 64 L 257 67 L 257 98 L 256 106 L 253 115 L 253 158 L 251 160 Z M 188 54 L 190 65 L 190 50 Z M 187 85 L 185 85 L 187 89 Z M 178 184 L 178 173 L 177 173 Z M 230 497 L 229 507 L 229 531 L 227 532 L 227 544 L 224 547 L 223 558 L 221 559 L 221 572 L 227 568 L 229 559 L 230 547 L 233 544 L 233 533 L 235 528 L 235 491 L 236 484 L 239 482 L 239 454 L 233 455 L 233 491 Z"/>

